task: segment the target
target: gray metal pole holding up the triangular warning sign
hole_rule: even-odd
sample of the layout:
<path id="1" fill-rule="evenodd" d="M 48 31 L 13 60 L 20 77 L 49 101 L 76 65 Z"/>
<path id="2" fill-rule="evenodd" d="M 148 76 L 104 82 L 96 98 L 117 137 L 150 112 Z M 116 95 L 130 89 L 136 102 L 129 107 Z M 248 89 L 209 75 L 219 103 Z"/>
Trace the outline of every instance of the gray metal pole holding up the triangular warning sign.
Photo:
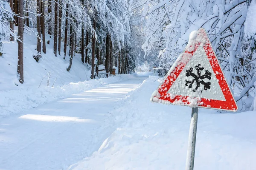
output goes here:
<path id="1" fill-rule="evenodd" d="M 198 122 L 198 108 L 192 108 L 191 122 L 189 127 L 189 145 L 186 158 L 186 170 L 194 170 L 195 139 Z"/>

